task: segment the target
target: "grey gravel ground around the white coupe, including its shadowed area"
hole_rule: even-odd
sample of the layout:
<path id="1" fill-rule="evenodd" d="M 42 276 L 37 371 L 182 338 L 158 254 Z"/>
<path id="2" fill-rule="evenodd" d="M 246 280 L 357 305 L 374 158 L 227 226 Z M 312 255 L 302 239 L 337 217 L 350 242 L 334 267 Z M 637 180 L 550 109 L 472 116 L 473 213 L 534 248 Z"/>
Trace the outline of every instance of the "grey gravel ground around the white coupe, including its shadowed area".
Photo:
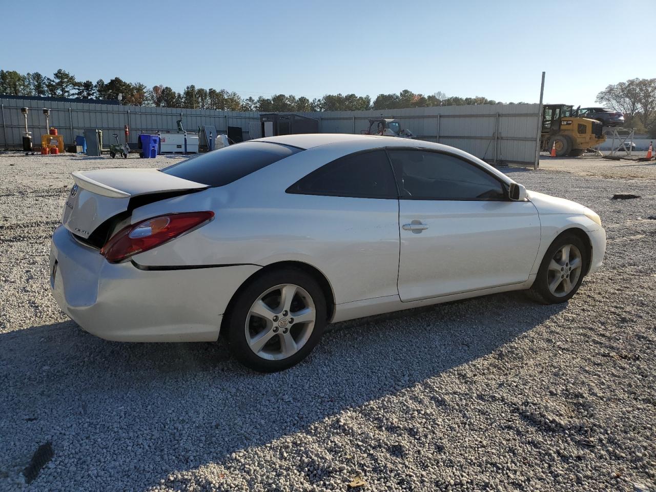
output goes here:
<path id="1" fill-rule="evenodd" d="M 653 179 L 512 171 L 605 223 L 605 264 L 567 304 L 340 323 L 260 375 L 220 344 L 108 342 L 60 312 L 68 173 L 117 165 L 152 161 L 0 155 L 0 490 L 656 490 Z"/>

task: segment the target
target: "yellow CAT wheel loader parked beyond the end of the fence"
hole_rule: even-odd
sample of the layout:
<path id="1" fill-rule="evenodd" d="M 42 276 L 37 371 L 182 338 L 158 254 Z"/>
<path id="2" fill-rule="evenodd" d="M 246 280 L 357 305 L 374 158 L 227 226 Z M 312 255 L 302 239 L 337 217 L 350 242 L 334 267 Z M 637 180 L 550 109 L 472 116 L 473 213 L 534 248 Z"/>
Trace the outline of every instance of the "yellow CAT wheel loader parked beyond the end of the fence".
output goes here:
<path id="1" fill-rule="evenodd" d="M 604 125 L 600 121 L 572 114 L 572 106 L 567 104 L 544 104 L 542 150 L 550 152 L 555 143 L 558 157 L 582 155 L 586 149 L 605 142 Z"/>

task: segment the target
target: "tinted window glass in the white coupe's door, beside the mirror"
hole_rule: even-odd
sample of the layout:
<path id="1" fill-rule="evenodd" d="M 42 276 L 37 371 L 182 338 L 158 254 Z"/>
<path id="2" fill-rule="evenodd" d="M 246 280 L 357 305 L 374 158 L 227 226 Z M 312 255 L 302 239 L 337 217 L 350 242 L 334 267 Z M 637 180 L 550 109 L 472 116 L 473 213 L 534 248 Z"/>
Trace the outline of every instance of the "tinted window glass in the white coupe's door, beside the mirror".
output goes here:
<path id="1" fill-rule="evenodd" d="M 499 180 L 459 157 L 390 150 L 401 197 L 427 200 L 504 200 Z"/>

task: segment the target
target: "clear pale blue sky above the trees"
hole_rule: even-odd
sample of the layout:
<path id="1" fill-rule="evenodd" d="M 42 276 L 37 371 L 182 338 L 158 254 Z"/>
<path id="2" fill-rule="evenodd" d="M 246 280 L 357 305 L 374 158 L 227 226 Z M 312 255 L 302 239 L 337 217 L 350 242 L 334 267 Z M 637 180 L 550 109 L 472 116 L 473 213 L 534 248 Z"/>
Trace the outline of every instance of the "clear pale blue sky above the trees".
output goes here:
<path id="1" fill-rule="evenodd" d="M 537 102 L 545 70 L 545 102 L 587 106 L 609 83 L 656 76 L 654 0 L 59 1 L 45 17 L 51 2 L 0 5 L 4 70 L 176 91 Z"/>

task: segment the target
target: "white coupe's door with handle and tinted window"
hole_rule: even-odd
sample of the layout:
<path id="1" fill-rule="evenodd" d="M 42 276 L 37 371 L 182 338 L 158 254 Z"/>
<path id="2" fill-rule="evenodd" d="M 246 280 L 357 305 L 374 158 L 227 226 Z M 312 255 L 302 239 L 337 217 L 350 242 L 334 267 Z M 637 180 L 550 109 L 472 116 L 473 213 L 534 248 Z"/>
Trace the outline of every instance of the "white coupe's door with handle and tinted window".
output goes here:
<path id="1" fill-rule="evenodd" d="M 527 280 L 540 243 L 530 201 L 510 201 L 501 180 L 462 157 L 389 150 L 400 192 L 401 300 Z"/>

